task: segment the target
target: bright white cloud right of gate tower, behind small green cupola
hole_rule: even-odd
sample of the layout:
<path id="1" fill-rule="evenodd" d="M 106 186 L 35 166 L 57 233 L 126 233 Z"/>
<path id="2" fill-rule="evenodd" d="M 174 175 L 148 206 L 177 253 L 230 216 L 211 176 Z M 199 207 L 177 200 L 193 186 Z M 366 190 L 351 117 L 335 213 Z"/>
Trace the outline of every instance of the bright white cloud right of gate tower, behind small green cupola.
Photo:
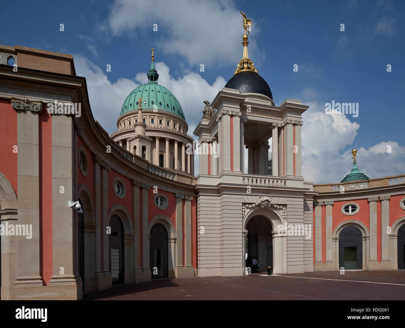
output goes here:
<path id="1" fill-rule="evenodd" d="M 304 93 L 309 94 L 306 90 Z M 305 102 L 305 105 L 310 106 L 303 114 L 302 127 L 302 174 L 305 180 L 340 182 L 352 169 L 352 148 L 358 150 L 358 169 L 371 179 L 405 172 L 404 146 L 395 141 L 382 141 L 368 148 L 357 146 L 360 124 L 351 122 L 350 116 L 325 114 L 324 104 L 317 100 Z M 391 153 L 387 152 L 387 146 L 391 146 Z"/>

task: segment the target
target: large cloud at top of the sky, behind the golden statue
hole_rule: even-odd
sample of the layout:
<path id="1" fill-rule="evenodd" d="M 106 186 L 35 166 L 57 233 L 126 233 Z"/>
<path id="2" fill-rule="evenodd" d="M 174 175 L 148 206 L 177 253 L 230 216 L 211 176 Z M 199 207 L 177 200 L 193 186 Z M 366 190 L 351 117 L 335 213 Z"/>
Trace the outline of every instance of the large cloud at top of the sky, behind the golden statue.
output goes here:
<path id="1" fill-rule="evenodd" d="M 264 58 L 256 38 L 260 27 L 253 21 L 249 35 L 249 54 L 253 60 Z M 158 31 L 153 32 L 153 24 Z M 150 40 L 157 54 L 180 54 L 189 64 L 209 65 L 237 64 L 242 58 L 243 17 L 235 4 L 229 0 L 218 1 L 172 1 L 153 0 L 134 2 L 116 0 L 107 20 L 99 25 L 100 30 L 113 36 L 128 33 L 130 38 L 139 30 L 156 35 Z M 255 62 L 256 63 L 256 62 Z"/>

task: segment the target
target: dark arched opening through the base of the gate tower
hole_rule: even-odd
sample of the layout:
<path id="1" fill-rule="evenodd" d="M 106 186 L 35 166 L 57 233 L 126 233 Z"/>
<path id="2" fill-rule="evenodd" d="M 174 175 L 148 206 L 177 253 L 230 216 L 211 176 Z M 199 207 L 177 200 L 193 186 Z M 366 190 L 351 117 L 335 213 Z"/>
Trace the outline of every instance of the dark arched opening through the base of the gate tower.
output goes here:
<path id="1" fill-rule="evenodd" d="M 270 220 L 262 215 L 255 215 L 247 222 L 246 230 L 246 267 L 251 267 L 251 272 L 254 272 L 252 260 L 256 259 L 262 271 L 267 270 L 267 266 L 273 268 L 273 228 Z"/>

